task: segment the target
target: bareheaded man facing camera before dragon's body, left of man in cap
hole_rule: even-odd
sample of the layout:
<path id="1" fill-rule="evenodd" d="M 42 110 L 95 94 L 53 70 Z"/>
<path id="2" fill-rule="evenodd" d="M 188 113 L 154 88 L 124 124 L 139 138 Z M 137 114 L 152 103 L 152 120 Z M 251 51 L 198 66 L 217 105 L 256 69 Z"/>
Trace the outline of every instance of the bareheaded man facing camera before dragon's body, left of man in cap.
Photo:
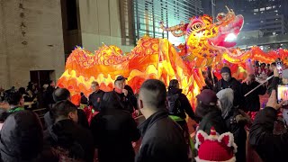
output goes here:
<path id="1" fill-rule="evenodd" d="M 100 112 L 100 103 L 103 100 L 103 90 L 100 89 L 98 82 L 92 82 L 93 93 L 89 95 L 89 105 L 93 106 L 94 111 Z"/>

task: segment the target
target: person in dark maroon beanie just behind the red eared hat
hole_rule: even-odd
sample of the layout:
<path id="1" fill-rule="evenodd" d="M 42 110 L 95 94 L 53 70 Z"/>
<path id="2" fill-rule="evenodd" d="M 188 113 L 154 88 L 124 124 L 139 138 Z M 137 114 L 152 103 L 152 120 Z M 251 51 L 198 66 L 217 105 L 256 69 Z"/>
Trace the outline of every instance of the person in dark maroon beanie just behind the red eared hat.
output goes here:
<path id="1" fill-rule="evenodd" d="M 213 126 L 219 133 L 228 131 L 225 121 L 221 116 L 220 108 L 217 106 L 218 99 L 215 92 L 210 89 L 204 89 L 196 98 L 197 107 L 195 115 L 201 120 L 198 130 L 210 133 Z"/>

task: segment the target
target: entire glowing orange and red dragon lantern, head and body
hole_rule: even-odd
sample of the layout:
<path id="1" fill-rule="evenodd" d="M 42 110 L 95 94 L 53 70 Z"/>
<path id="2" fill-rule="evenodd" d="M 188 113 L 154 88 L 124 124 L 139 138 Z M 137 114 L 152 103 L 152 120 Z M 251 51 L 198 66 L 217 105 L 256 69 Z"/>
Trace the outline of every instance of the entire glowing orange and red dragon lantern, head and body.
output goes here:
<path id="1" fill-rule="evenodd" d="M 195 95 L 205 85 L 203 67 L 217 70 L 225 65 L 234 72 L 245 72 L 247 59 L 273 62 L 275 58 L 284 59 L 288 55 L 284 49 L 268 53 L 257 47 L 247 51 L 231 49 L 236 43 L 227 38 L 229 34 L 237 36 L 243 23 L 242 15 L 235 15 L 231 10 L 228 14 L 218 14 L 216 23 L 212 23 L 208 15 L 194 16 L 190 23 L 174 27 L 164 27 L 161 23 L 164 31 L 185 37 L 178 52 L 168 40 L 148 36 L 141 38 L 130 53 L 123 53 L 116 46 L 103 45 L 94 52 L 77 47 L 67 58 L 66 70 L 58 79 L 58 86 L 66 87 L 73 103 L 79 104 L 80 92 L 88 96 L 93 81 L 98 81 L 104 91 L 110 91 L 117 76 L 126 76 L 128 85 L 137 93 L 148 78 L 160 79 L 166 85 L 176 78 L 194 105 Z"/>

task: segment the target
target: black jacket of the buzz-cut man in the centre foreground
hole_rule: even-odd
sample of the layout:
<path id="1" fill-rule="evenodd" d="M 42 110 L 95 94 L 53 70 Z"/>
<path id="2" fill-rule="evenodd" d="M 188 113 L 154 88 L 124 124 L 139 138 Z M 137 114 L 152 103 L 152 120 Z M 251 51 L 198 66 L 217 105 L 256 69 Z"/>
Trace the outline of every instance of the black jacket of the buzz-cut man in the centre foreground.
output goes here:
<path id="1" fill-rule="evenodd" d="M 187 145 L 183 130 L 165 111 L 152 114 L 139 125 L 142 144 L 135 162 L 187 162 Z"/>

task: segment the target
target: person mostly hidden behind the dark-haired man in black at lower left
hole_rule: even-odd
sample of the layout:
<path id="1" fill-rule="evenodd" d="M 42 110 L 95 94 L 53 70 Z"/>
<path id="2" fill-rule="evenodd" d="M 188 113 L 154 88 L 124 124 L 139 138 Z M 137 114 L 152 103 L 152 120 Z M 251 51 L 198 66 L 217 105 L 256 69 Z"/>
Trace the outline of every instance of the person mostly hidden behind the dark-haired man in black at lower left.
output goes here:
<path id="1" fill-rule="evenodd" d="M 53 99 L 56 103 L 63 101 L 63 100 L 70 101 L 70 92 L 66 88 L 58 88 L 53 93 Z M 53 107 L 54 105 L 55 104 L 53 104 Z M 77 109 L 77 113 L 78 113 L 78 124 L 88 129 L 89 123 L 85 115 L 85 112 L 81 109 Z M 55 122 L 55 117 L 53 116 L 53 113 L 51 111 L 45 113 L 44 121 L 45 121 L 46 127 L 51 126 Z"/>

